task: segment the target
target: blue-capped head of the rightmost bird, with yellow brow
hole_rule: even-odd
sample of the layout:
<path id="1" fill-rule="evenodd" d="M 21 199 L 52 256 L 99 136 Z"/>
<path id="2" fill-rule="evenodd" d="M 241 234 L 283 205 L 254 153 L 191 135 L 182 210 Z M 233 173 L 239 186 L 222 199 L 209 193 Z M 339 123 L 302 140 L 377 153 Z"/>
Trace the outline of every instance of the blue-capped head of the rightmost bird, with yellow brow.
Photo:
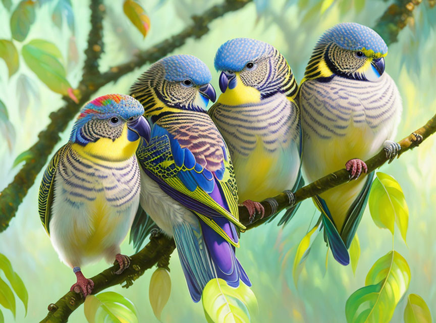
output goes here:
<path id="1" fill-rule="evenodd" d="M 385 71 L 388 46 L 369 27 L 340 23 L 327 30 L 313 50 L 305 79 L 338 75 L 376 81 Z"/>

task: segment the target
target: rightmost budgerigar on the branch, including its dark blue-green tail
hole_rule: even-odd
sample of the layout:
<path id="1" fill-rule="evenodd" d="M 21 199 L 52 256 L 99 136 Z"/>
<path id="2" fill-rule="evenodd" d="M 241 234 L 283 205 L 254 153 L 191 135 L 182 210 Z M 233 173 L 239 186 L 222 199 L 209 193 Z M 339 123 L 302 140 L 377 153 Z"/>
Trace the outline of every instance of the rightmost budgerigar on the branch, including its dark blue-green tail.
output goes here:
<path id="1" fill-rule="evenodd" d="M 365 174 L 363 160 L 382 148 L 392 160 L 401 148 L 390 140 L 397 132 L 402 103 L 385 72 L 387 52 L 385 41 L 372 29 L 338 24 L 317 42 L 299 89 L 307 179 L 312 182 L 346 163 L 355 180 L 314 197 L 326 242 L 344 265 L 350 261 L 347 249 L 373 178 L 373 172 Z"/>

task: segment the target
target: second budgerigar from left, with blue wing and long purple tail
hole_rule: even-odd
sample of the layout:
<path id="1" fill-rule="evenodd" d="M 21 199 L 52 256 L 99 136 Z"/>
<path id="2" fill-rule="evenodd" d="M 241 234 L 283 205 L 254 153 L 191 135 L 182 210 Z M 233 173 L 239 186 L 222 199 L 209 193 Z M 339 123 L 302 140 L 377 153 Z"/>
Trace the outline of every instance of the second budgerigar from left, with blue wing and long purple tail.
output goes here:
<path id="1" fill-rule="evenodd" d="M 255 301 L 235 256 L 245 227 L 238 221 L 230 154 L 205 112 L 209 99 L 215 100 L 210 80 L 202 61 L 175 55 L 154 63 L 130 90 L 153 123 L 150 141 L 137 152 L 141 206 L 174 237 L 191 297 L 202 298 L 209 316 L 211 288 L 203 293 L 209 284 L 220 282 L 223 293 L 233 288 L 237 307 Z"/>

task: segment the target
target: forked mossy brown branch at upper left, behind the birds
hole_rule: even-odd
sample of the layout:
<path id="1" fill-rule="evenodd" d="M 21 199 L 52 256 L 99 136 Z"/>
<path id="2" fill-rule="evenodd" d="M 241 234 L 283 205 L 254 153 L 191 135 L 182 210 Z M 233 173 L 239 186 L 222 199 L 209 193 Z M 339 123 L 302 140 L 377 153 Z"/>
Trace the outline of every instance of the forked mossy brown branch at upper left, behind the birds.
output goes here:
<path id="1" fill-rule="evenodd" d="M 101 50 L 92 52 L 91 50 L 93 49 L 88 47 L 86 52 L 89 60 L 87 59 L 86 61 L 89 64 L 85 63 L 84 69 L 86 71 L 83 73 L 84 79 L 79 83 L 79 102 L 75 103 L 69 97 L 63 97 L 66 104 L 57 112 L 50 114 L 50 124 L 45 130 L 39 133 L 39 140 L 29 148 L 28 151 L 32 157 L 25 161 L 24 166 L 15 176 L 14 180 L 0 193 L 0 232 L 6 230 L 11 219 L 15 217 L 15 212 L 17 211 L 18 206 L 23 201 L 29 188 L 35 182 L 36 176 L 44 167 L 47 157 L 53 150 L 53 147 L 58 143 L 60 139 L 59 133 L 67 128 L 70 120 L 74 118 L 82 105 L 90 99 L 92 94 L 94 94 L 100 87 L 118 80 L 134 69 L 165 57 L 174 49 L 182 46 L 188 38 L 200 38 L 208 32 L 208 24 L 213 20 L 222 17 L 228 12 L 239 10 L 251 1 L 252 0 L 226 0 L 221 5 L 213 6 L 206 10 L 201 16 L 193 16 L 193 24 L 186 27 L 180 33 L 161 41 L 147 50 L 140 51 L 130 62 L 112 67 L 110 70 L 102 74 L 95 74 L 96 70 L 98 72 L 98 63 L 97 65 L 93 64 L 91 59 L 98 59 Z M 91 8 L 97 4 L 99 4 L 98 7 L 101 8 L 102 5 L 98 0 L 93 1 Z M 101 24 L 101 19 L 97 17 L 95 13 L 92 14 L 91 21 L 96 24 Z M 88 46 L 92 45 L 92 47 L 98 45 L 101 41 L 98 40 L 98 37 L 94 37 L 92 31 L 93 28 L 98 30 L 100 27 L 91 26 Z M 100 35 L 101 33 L 98 34 Z M 102 49 L 102 45 L 99 46 Z M 91 69 L 88 71 L 88 68 Z M 92 69 L 94 72 L 91 72 Z"/>

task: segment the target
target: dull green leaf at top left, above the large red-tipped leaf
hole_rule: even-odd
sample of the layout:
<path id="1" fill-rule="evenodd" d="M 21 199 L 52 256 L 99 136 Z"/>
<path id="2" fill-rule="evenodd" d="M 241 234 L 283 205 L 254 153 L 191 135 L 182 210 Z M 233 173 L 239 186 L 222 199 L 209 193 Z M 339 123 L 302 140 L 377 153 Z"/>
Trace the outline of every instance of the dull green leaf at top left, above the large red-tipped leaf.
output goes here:
<path id="1" fill-rule="evenodd" d="M 35 22 L 35 5 L 32 0 L 23 0 L 11 16 L 12 37 L 18 41 L 26 39 L 30 26 Z"/>

